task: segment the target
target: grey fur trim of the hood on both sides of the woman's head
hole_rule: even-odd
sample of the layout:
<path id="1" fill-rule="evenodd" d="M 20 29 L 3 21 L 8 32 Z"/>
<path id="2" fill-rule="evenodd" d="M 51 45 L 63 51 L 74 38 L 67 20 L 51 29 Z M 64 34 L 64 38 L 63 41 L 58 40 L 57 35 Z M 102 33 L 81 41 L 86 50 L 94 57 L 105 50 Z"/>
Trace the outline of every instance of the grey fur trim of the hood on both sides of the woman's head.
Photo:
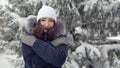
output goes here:
<path id="1" fill-rule="evenodd" d="M 27 25 L 25 25 L 25 27 L 23 27 L 24 31 L 27 34 L 33 34 L 32 29 L 35 26 L 35 23 L 37 23 L 37 17 L 34 15 L 30 15 L 27 17 Z M 56 37 L 59 37 L 61 35 L 66 35 L 66 28 L 64 23 L 62 22 L 56 22 Z"/>

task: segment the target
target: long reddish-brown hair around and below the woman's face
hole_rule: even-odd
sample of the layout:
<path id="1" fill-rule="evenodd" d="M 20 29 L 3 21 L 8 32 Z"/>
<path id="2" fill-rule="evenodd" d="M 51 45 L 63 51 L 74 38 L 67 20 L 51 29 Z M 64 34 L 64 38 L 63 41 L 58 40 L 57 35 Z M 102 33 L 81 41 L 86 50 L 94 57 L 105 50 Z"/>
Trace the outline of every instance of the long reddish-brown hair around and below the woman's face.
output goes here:
<path id="1" fill-rule="evenodd" d="M 33 35 L 42 40 L 52 41 L 56 37 L 56 24 L 49 29 L 44 29 L 40 21 L 37 23 L 33 29 Z"/>

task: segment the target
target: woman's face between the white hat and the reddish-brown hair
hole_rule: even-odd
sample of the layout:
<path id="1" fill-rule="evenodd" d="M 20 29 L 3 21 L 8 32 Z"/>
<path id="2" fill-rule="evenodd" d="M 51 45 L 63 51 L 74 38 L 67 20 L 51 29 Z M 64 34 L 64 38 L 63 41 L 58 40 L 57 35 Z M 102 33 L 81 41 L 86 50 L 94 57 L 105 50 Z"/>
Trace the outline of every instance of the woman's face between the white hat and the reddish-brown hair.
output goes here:
<path id="1" fill-rule="evenodd" d="M 43 26 L 43 28 L 51 28 L 54 26 L 54 19 L 52 18 L 41 18 L 40 23 Z"/>

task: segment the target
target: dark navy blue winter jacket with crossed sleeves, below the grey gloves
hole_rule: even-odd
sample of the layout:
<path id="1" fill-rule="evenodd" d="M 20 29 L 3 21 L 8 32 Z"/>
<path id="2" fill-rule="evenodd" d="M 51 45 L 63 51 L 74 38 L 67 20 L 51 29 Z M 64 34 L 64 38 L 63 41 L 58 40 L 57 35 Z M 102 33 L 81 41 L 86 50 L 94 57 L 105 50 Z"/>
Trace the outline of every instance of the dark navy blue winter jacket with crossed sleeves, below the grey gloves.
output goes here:
<path id="1" fill-rule="evenodd" d="M 66 44 L 61 44 L 56 48 L 40 39 L 37 39 L 32 47 L 22 43 L 25 68 L 62 68 L 67 51 Z"/>

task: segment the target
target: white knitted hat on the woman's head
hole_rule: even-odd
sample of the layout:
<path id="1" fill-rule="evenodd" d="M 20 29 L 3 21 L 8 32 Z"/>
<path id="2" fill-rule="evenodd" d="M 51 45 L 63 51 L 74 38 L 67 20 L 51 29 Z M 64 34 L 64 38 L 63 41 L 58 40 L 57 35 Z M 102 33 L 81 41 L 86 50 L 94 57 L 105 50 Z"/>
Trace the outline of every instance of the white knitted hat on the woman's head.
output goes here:
<path id="1" fill-rule="evenodd" d="M 55 20 L 55 22 L 57 21 L 57 14 L 56 14 L 55 10 L 49 6 L 45 6 L 45 5 L 42 6 L 42 8 L 39 10 L 38 15 L 37 15 L 37 22 L 42 17 L 53 18 Z"/>

